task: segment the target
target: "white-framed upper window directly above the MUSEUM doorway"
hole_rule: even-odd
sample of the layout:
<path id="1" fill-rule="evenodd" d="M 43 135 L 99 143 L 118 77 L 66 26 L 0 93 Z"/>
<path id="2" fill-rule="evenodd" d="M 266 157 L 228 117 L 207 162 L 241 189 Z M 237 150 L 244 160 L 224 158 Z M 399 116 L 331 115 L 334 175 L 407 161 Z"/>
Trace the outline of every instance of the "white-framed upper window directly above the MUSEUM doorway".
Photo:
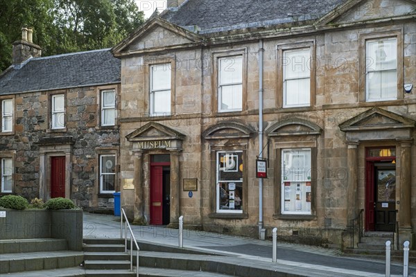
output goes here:
<path id="1" fill-rule="evenodd" d="M 171 114 L 171 64 L 150 66 L 150 115 Z"/>

